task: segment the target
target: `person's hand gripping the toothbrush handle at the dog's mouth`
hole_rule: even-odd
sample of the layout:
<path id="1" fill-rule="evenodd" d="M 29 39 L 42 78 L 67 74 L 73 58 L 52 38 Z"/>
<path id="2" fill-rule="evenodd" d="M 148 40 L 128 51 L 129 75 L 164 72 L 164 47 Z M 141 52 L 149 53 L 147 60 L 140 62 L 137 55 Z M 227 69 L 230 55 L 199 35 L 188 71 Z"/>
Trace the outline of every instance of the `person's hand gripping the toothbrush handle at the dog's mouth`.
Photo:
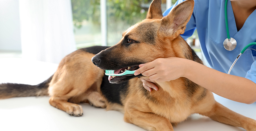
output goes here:
<path id="1" fill-rule="evenodd" d="M 157 82 L 175 80 L 184 75 L 185 69 L 187 69 L 186 66 L 188 65 L 186 61 L 187 59 L 178 57 L 158 58 L 152 62 L 140 64 L 140 68 L 134 72 L 134 75 L 141 73 L 143 76 L 149 77 L 151 81 Z"/>

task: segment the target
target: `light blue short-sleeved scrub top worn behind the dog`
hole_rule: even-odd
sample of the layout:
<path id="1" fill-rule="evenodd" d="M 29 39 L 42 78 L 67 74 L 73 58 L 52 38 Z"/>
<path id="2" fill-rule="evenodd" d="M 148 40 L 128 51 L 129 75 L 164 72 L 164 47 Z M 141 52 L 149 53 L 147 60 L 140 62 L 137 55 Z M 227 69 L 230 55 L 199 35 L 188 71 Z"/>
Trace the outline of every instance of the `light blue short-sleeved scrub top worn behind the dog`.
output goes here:
<path id="1" fill-rule="evenodd" d="M 163 16 L 185 0 L 178 0 Z M 223 46 L 227 38 L 224 5 L 225 0 L 194 0 L 195 6 L 185 33 L 184 39 L 190 37 L 197 29 L 203 57 L 208 67 L 227 73 L 230 66 L 241 52 L 251 42 L 256 42 L 256 10 L 246 19 L 243 27 L 237 31 L 235 17 L 230 1 L 227 3 L 227 17 L 230 37 L 237 41 L 234 50 L 228 51 Z M 256 49 L 256 46 L 249 48 Z M 245 77 L 256 83 L 256 51 L 247 50 L 238 59 L 230 74 Z"/>

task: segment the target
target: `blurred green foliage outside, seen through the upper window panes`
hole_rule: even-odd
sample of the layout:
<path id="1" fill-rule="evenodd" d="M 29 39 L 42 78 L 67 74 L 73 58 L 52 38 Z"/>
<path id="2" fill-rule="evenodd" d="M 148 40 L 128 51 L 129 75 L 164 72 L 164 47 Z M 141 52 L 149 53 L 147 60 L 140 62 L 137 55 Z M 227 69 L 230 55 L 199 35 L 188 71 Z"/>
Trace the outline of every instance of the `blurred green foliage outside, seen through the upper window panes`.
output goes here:
<path id="1" fill-rule="evenodd" d="M 146 17 L 148 7 L 152 0 L 107 0 L 108 20 L 124 21 L 132 25 Z M 177 0 L 172 0 L 175 3 Z M 81 28 L 84 20 L 100 24 L 100 0 L 71 0 L 73 22 L 76 28 Z M 166 0 L 162 0 L 166 3 Z"/>

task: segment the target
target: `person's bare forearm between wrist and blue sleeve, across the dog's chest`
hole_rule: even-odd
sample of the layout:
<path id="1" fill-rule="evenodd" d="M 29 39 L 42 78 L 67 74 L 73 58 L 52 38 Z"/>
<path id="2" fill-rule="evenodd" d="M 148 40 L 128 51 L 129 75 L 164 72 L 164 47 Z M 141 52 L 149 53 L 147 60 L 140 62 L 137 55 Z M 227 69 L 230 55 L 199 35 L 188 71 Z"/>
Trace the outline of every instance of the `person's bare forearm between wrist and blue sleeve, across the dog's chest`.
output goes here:
<path id="1" fill-rule="evenodd" d="M 256 84 L 249 79 L 228 75 L 194 61 L 187 60 L 184 77 L 227 99 L 254 103 Z"/>

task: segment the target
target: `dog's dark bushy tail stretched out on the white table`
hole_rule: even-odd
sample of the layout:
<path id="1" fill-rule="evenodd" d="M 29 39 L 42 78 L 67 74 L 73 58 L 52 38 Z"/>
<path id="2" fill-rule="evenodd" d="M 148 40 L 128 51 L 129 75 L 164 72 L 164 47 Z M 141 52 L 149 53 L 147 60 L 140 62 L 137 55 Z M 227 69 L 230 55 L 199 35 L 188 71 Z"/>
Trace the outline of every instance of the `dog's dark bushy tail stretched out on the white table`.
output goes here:
<path id="1" fill-rule="evenodd" d="M 48 96 L 48 87 L 53 76 L 38 85 L 3 83 L 0 84 L 0 99 L 28 96 Z"/>

